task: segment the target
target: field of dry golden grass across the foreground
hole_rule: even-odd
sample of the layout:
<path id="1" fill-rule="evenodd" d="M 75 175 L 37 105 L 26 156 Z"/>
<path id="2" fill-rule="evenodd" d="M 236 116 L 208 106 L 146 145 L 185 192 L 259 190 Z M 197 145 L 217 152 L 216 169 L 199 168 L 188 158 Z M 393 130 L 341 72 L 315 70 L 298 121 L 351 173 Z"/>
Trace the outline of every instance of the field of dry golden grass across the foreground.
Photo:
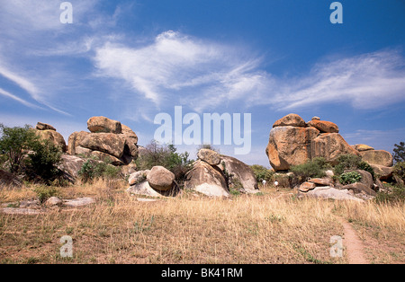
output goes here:
<path id="1" fill-rule="evenodd" d="M 2 191 L 0 197 L 10 202 L 34 197 L 31 193 L 31 188 Z M 106 181 L 61 189 L 61 195 L 94 197 L 96 204 L 40 216 L 0 214 L 0 262 L 347 263 L 346 255 L 329 255 L 330 237 L 344 235 L 337 215 L 350 220 L 365 242 L 378 242 L 366 243 L 371 262 L 405 261 L 404 207 L 399 205 L 297 199 L 274 189 L 230 199 L 187 192 L 139 202 L 125 192 L 124 183 Z M 71 259 L 59 254 L 64 235 L 73 238 Z"/>

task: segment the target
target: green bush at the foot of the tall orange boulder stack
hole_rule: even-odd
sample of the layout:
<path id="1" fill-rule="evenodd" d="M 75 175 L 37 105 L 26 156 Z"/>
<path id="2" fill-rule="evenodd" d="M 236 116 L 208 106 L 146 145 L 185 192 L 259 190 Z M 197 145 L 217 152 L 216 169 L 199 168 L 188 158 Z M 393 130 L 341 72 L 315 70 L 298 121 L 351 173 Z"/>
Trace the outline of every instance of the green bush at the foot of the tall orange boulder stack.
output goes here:
<path id="1" fill-rule="evenodd" d="M 326 176 L 325 171 L 329 168 L 324 158 L 314 158 L 307 163 L 293 165 L 290 172 L 293 172 L 300 181 L 306 181 L 309 178 L 320 178 Z"/>

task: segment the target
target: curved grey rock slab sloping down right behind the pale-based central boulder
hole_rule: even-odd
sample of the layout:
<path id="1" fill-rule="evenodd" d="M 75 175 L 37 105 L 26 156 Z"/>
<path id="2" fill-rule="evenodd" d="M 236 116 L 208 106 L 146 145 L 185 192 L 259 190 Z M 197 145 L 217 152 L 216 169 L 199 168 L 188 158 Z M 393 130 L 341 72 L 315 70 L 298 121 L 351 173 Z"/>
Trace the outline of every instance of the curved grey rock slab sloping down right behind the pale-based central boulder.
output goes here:
<path id="1" fill-rule="evenodd" d="M 230 181 L 239 181 L 242 184 L 244 192 L 255 193 L 258 190 L 255 172 L 246 164 L 236 158 L 221 155 L 221 163 L 225 165 L 223 169 L 231 176 Z"/>

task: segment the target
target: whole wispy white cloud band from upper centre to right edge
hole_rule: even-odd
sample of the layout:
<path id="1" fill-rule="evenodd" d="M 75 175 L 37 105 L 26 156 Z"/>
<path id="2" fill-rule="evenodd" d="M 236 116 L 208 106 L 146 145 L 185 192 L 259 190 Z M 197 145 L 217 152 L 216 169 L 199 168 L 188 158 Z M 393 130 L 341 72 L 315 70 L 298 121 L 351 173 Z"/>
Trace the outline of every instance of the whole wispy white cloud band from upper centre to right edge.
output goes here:
<path id="1" fill-rule="evenodd" d="M 98 75 L 123 80 L 157 108 L 170 101 L 198 111 L 229 102 L 283 110 L 344 102 L 375 109 L 405 101 L 405 58 L 396 50 L 322 61 L 308 74 L 283 78 L 267 72 L 264 61 L 247 49 L 175 31 L 142 47 L 107 42 L 94 56 Z"/>

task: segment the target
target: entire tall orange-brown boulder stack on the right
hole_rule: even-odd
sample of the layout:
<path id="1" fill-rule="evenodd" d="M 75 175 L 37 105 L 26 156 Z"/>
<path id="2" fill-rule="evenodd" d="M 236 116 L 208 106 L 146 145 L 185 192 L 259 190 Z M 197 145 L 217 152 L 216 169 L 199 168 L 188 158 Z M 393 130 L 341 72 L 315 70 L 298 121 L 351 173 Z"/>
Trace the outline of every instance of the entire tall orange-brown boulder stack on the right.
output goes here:
<path id="1" fill-rule="evenodd" d="M 333 122 L 317 117 L 305 122 L 296 114 L 289 114 L 275 122 L 266 154 L 275 172 L 288 171 L 291 166 L 315 157 L 324 157 L 327 162 L 336 163 L 341 154 L 360 155 L 339 135 L 339 128 Z"/>

